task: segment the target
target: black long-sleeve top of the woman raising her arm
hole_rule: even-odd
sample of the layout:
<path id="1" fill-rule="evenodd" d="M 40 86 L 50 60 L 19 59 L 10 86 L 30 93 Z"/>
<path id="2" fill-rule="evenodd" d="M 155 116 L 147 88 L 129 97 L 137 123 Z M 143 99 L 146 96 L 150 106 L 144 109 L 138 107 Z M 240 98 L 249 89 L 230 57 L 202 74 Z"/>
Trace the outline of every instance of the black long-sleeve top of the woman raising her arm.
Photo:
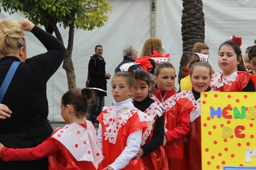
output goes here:
<path id="1" fill-rule="evenodd" d="M 18 66 L 2 100 L 2 104 L 12 110 L 12 115 L 10 118 L 0 119 L 0 130 L 23 126 L 37 116 L 36 122 L 41 122 L 48 116 L 46 83 L 60 67 L 66 49 L 58 39 L 37 26 L 31 32 L 48 52 L 28 58 Z M 1 58 L 0 86 L 14 61 L 20 59 L 14 56 Z"/>

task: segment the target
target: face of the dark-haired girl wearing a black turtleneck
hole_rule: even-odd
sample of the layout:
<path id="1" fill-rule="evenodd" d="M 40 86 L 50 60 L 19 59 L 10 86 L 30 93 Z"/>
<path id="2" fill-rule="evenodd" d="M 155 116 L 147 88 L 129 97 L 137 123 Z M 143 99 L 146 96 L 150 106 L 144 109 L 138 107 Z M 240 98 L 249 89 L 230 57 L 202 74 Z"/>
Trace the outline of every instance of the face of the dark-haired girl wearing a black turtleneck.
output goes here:
<path id="1" fill-rule="evenodd" d="M 135 92 L 133 99 L 137 102 L 143 101 L 148 96 L 148 91 L 151 89 L 151 84 L 148 86 L 147 82 L 141 79 L 136 79 Z"/>

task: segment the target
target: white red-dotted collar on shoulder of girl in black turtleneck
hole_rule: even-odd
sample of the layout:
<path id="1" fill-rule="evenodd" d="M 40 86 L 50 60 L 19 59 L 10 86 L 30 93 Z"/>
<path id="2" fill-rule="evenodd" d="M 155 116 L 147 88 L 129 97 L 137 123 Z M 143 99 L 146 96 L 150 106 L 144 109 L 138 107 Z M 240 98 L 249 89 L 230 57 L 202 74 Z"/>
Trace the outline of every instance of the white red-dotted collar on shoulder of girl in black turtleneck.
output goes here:
<path id="1" fill-rule="evenodd" d="M 156 115 L 158 115 L 159 117 L 163 115 L 163 105 L 160 102 L 154 102 L 152 103 L 148 109 L 146 109 L 144 111 L 145 114 L 147 114 L 149 117 L 151 117 L 153 119 L 153 123 L 155 122 L 154 118 L 156 117 Z M 152 125 L 153 125 L 152 123 Z M 148 126 L 148 128 L 146 129 L 146 131 L 144 132 L 143 136 L 142 136 L 142 142 L 141 145 L 145 144 L 145 141 L 147 140 L 148 136 L 150 136 L 152 131 L 152 126 Z"/>

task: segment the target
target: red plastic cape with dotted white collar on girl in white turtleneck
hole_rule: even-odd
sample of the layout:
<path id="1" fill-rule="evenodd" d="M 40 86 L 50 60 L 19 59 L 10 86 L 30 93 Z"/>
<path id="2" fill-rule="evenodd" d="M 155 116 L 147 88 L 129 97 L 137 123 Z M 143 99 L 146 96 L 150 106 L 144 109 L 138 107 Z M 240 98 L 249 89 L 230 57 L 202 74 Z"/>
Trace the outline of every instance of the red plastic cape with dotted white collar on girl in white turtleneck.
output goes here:
<path id="1" fill-rule="evenodd" d="M 97 117 L 102 125 L 102 167 L 115 161 L 127 146 L 128 136 L 142 128 L 142 142 L 150 135 L 153 119 L 134 106 L 115 119 L 114 106 L 103 107 L 103 111 Z M 144 167 L 142 160 L 130 160 L 124 169 L 140 169 Z"/>

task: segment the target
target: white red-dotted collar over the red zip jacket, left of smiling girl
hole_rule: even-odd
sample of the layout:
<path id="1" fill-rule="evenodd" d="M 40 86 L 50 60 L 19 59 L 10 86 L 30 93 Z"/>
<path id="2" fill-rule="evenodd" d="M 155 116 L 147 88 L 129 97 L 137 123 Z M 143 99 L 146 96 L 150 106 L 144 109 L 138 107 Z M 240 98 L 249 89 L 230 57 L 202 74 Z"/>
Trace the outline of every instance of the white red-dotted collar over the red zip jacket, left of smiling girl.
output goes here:
<path id="1" fill-rule="evenodd" d="M 159 99 L 156 98 L 156 96 L 154 94 L 151 96 L 151 98 L 156 102 L 160 102 Z M 166 99 L 166 101 L 164 101 L 162 103 L 164 113 L 167 113 L 167 111 L 169 111 L 176 104 L 176 101 L 178 101 L 179 99 L 180 99 L 180 96 L 177 96 L 177 94 L 175 94 L 175 95 L 169 97 L 168 99 Z M 164 119 L 164 131 L 165 132 L 168 131 L 168 129 L 165 127 L 166 124 L 167 124 L 167 119 Z"/>

